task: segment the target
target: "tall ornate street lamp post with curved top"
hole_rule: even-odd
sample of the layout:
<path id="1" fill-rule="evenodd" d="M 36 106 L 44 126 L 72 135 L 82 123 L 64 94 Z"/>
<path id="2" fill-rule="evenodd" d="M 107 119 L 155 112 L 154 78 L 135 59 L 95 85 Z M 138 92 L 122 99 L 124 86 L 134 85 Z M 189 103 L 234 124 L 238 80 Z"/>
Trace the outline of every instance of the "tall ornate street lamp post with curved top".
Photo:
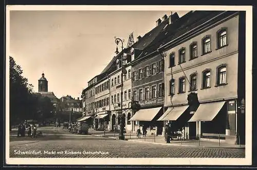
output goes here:
<path id="1" fill-rule="evenodd" d="M 121 42 L 121 51 L 123 51 L 123 41 L 119 38 L 115 37 L 115 43 L 118 45 Z M 116 52 L 118 54 L 118 48 L 116 48 Z M 123 104 L 123 54 L 121 54 L 121 114 L 118 116 L 120 117 L 120 133 L 119 133 L 119 140 L 124 140 L 124 118 L 123 118 L 123 111 L 122 111 L 122 104 Z"/>

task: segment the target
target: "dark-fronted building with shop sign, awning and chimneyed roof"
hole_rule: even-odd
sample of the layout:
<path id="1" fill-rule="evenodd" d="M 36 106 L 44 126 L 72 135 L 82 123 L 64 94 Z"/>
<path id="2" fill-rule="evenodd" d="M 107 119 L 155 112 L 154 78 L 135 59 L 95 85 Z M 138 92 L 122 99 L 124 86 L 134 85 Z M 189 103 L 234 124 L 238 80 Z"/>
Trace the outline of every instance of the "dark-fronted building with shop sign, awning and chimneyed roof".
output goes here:
<path id="1" fill-rule="evenodd" d="M 143 126 L 151 133 L 161 135 L 163 123 L 157 119 L 163 114 L 163 58 L 160 53 L 155 52 L 160 42 L 155 39 L 166 30 L 169 25 L 178 20 L 177 13 L 163 16 L 163 20 L 157 20 L 157 26 L 141 39 L 144 44 L 135 44 L 133 47 L 139 55 L 135 54 L 132 65 L 132 100 L 138 101 L 140 110 L 132 117 L 135 130 Z M 154 36 L 153 36 L 154 35 Z M 151 37 L 153 36 L 153 37 Z M 151 37 L 151 40 L 149 40 Z M 157 45 L 157 46 L 156 46 Z M 145 46 L 145 47 L 144 47 Z"/>

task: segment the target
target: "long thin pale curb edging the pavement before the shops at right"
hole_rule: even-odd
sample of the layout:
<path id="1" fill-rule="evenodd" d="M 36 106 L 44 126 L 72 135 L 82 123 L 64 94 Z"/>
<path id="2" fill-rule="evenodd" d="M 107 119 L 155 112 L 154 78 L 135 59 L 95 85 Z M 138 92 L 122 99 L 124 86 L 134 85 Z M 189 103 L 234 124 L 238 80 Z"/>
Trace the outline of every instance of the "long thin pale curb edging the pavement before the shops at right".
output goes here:
<path id="1" fill-rule="evenodd" d="M 138 143 L 151 143 L 157 145 L 169 145 L 169 146 L 182 146 L 182 147 L 201 147 L 201 148 L 227 148 L 227 149 L 245 149 L 245 146 L 242 147 L 231 147 L 231 146 L 196 146 L 196 145 L 181 145 L 181 144 L 174 144 L 174 143 L 157 143 L 157 142 L 147 142 L 147 141 L 138 141 L 134 139 L 128 139 L 127 141 L 130 142 L 138 142 Z"/>

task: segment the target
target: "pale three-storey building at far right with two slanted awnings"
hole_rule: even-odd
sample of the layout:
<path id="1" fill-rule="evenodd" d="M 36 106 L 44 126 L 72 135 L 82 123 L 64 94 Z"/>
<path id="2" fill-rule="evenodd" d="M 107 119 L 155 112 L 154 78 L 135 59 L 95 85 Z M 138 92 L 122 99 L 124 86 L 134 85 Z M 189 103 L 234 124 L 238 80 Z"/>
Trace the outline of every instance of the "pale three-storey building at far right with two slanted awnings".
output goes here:
<path id="1" fill-rule="evenodd" d="M 179 31 L 168 31 L 157 49 L 166 54 L 167 111 L 160 121 L 171 121 L 173 131 L 231 143 L 240 135 L 245 143 L 244 18 L 235 11 L 191 11 L 180 18 L 186 24 Z"/>

